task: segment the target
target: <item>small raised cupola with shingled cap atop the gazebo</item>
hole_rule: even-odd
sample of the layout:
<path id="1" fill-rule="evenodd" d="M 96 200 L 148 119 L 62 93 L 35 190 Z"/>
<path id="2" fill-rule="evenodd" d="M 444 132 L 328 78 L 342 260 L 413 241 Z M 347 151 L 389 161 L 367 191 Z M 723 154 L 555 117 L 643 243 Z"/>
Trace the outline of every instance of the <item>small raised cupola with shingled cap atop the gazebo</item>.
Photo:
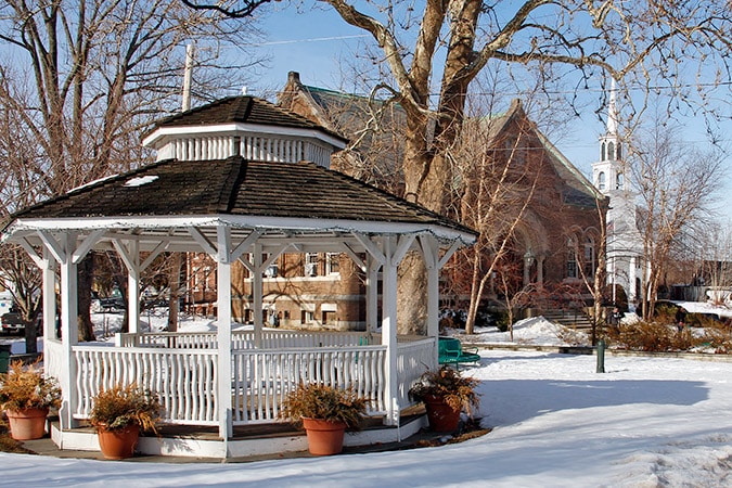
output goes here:
<path id="1" fill-rule="evenodd" d="M 305 117 L 248 95 L 229 97 L 156 124 L 143 145 L 157 160 L 213 160 L 241 155 L 249 160 L 311 160 L 330 168 L 345 147 L 341 136 Z"/>

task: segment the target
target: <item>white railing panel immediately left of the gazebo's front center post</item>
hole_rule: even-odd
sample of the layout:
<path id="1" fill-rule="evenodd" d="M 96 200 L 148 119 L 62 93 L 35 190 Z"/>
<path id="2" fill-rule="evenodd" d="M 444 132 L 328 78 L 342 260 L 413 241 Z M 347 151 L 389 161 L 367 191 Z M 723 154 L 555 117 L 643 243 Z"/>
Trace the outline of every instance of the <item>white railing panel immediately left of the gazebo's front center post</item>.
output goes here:
<path id="1" fill-rule="evenodd" d="M 73 351 L 76 419 L 89 418 L 100 390 L 137 383 L 159 395 L 164 421 L 192 425 L 218 421 L 216 350 L 76 346 Z"/>

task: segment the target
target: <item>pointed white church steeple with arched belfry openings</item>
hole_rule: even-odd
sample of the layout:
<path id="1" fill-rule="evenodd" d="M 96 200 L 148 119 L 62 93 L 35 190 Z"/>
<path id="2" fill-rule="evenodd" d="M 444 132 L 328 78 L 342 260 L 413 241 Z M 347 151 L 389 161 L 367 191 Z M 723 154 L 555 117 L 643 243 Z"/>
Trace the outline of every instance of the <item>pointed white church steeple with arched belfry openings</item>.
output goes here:
<path id="1" fill-rule="evenodd" d="M 625 190 L 622 143 L 618 132 L 617 90 L 611 84 L 605 134 L 600 138 L 600 162 L 592 165 L 594 185 L 607 195 L 614 190 Z"/>

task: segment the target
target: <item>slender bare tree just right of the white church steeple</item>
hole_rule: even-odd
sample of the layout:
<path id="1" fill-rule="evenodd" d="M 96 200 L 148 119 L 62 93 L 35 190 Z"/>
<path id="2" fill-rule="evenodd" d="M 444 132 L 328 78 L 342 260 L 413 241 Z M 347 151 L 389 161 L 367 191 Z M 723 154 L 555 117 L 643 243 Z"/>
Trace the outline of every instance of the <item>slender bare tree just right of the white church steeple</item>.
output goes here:
<path id="1" fill-rule="evenodd" d="M 639 227 L 647 271 L 643 282 L 643 318 L 653 317 L 669 258 L 684 232 L 710 218 L 710 196 L 718 189 L 722 158 L 684 143 L 680 130 L 654 124 L 637 132 L 628 158 L 632 184 L 641 201 Z"/>

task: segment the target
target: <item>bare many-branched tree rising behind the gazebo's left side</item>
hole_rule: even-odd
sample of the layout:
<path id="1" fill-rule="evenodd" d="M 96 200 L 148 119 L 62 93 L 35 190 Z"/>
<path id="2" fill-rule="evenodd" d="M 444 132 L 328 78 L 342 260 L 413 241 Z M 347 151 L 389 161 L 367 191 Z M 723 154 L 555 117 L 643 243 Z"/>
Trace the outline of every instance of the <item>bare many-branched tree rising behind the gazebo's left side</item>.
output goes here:
<path id="1" fill-rule="evenodd" d="M 180 106 L 181 46 L 198 40 L 206 48 L 200 65 L 213 67 L 223 43 L 249 33 L 167 0 L 4 2 L 0 113 L 13 124 L 8 137 L 28 145 L 9 162 L 2 192 L 20 198 L 3 210 L 150 160 L 139 138 L 154 117 Z M 215 76 L 198 73 L 200 93 L 216 93 L 206 86 Z M 90 290 L 91 260 L 80 269 L 79 288 Z M 79 300 L 80 337 L 93 338 L 90 295 Z"/>

